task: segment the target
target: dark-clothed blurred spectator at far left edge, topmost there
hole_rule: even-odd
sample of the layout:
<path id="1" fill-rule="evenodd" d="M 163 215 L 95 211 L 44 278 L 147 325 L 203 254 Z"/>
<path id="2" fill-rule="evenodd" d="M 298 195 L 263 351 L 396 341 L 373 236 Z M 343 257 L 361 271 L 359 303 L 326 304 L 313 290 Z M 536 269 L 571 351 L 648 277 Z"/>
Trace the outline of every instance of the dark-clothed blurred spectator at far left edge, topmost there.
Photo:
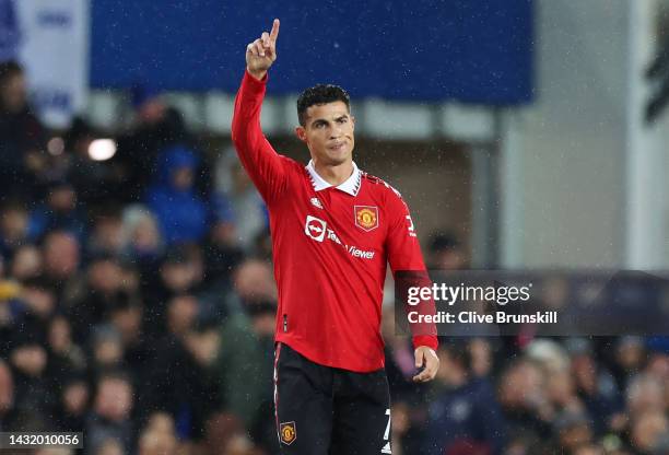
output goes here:
<path id="1" fill-rule="evenodd" d="M 15 61 L 0 63 L 0 198 L 33 196 L 46 167 L 45 130 L 27 103 L 25 73 Z"/>

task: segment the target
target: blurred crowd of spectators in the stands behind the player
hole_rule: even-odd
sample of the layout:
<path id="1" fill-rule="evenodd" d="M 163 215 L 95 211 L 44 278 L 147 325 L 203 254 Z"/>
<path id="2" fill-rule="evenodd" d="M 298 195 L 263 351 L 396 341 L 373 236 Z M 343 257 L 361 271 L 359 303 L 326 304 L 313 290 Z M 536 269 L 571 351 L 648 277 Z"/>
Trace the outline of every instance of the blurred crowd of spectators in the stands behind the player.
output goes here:
<path id="1" fill-rule="evenodd" d="M 48 131 L 0 63 L 0 431 L 83 432 L 85 455 L 275 454 L 267 211 L 234 151 L 209 154 L 159 93 L 131 102 L 96 161 L 99 132 Z M 455 237 L 425 246 L 467 267 Z M 664 340 L 444 338 L 419 386 L 391 306 L 382 329 L 395 455 L 669 453 Z"/>

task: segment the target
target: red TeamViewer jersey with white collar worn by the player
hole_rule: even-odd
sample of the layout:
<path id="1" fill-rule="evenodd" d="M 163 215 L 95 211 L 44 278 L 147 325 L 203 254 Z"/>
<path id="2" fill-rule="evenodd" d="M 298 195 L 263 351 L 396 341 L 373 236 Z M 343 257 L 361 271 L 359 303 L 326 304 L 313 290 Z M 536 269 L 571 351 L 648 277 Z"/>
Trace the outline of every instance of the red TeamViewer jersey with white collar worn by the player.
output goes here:
<path id="1" fill-rule="evenodd" d="M 399 192 L 354 164 L 333 187 L 314 170 L 278 154 L 260 129 L 267 77 L 245 72 L 232 138 L 265 199 L 279 290 L 275 340 L 321 365 L 355 372 L 384 366 L 380 335 L 386 265 L 425 270 Z M 433 332 L 433 331 L 431 331 Z M 434 335 L 414 347 L 437 347 Z"/>

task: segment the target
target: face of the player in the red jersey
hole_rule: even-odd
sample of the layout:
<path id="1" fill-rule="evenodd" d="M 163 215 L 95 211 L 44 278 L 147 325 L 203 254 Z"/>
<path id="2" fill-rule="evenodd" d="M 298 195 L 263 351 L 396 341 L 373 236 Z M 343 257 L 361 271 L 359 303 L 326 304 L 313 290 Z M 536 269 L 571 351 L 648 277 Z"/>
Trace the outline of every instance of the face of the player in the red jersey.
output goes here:
<path id="1" fill-rule="evenodd" d="M 337 166 L 351 161 L 355 119 L 343 102 L 309 106 L 305 124 L 295 131 L 316 164 Z"/>

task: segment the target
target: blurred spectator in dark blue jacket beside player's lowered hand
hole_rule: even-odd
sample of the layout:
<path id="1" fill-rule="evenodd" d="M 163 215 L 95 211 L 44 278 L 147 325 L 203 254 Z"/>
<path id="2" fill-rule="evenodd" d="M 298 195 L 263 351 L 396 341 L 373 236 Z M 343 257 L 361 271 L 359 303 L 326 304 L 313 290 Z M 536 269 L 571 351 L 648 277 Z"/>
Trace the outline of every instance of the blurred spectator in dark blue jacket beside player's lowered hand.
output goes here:
<path id="1" fill-rule="evenodd" d="M 430 404 L 424 453 L 502 454 L 506 422 L 488 377 L 477 377 L 471 371 L 469 346 L 444 343 L 438 355 L 443 366 L 435 387 L 442 390 L 437 388 Z"/>

